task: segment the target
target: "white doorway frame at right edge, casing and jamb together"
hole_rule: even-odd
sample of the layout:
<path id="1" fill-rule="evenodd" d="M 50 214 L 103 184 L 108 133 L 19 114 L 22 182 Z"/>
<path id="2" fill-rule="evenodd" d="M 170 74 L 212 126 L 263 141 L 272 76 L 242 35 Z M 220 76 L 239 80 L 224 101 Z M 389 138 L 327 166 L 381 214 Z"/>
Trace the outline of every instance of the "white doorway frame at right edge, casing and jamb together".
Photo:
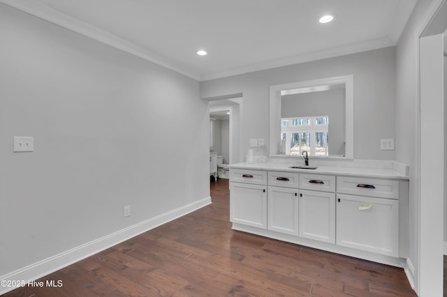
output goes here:
<path id="1" fill-rule="evenodd" d="M 443 296 L 444 288 L 444 139 L 427 141 L 433 129 L 444 135 L 443 38 L 424 36 L 445 0 L 434 0 L 416 31 L 416 153 L 415 189 L 418 199 L 418 268 L 415 291 L 419 296 Z M 444 28 L 445 30 L 445 28 Z M 440 43 L 441 40 L 441 43 Z M 439 62 L 440 61 L 440 62 Z M 439 66 L 439 63 L 441 64 Z M 445 136 L 444 136 L 445 137 Z"/>

